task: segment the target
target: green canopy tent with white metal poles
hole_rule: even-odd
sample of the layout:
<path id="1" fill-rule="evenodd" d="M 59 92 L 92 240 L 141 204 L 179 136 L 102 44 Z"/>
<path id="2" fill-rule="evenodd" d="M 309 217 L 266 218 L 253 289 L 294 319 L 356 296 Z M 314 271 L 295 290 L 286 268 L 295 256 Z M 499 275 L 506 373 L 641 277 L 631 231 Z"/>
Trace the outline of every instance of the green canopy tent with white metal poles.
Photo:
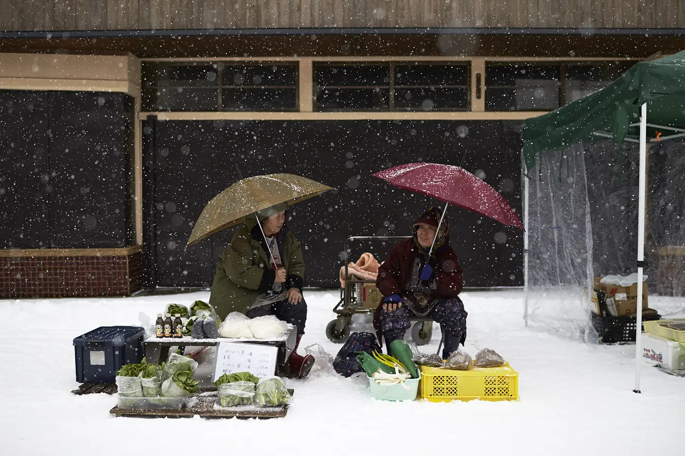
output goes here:
<path id="1" fill-rule="evenodd" d="M 649 122 L 648 122 L 649 121 Z M 584 96 L 543 116 L 526 121 L 523 129 L 523 159 L 527 171 L 540 154 L 558 150 L 592 136 L 616 142 L 640 144 L 638 193 L 638 303 L 643 296 L 645 267 L 645 187 L 647 143 L 685 136 L 685 51 L 640 62 L 601 90 Z M 524 252 L 527 290 L 528 179 L 525 180 L 526 224 Z M 527 310 L 526 310 L 527 312 Z M 637 321 L 642 308 L 637 306 Z M 636 325 L 635 392 L 640 392 L 640 334 Z"/>

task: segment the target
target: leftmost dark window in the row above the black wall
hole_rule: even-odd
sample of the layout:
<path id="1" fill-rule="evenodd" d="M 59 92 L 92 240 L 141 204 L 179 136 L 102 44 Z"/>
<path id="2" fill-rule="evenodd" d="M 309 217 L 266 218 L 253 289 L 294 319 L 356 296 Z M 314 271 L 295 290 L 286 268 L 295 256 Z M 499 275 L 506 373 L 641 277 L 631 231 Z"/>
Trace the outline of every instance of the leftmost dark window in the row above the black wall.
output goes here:
<path id="1" fill-rule="evenodd" d="M 297 111 L 297 64 L 143 62 L 145 111 Z"/>

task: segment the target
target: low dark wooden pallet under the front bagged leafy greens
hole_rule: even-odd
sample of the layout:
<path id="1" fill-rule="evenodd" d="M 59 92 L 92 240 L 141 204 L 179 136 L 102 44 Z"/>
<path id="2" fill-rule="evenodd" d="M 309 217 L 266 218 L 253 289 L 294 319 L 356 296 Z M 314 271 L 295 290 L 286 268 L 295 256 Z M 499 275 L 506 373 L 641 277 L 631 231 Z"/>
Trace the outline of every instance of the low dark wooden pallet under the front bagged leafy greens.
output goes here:
<path id="1" fill-rule="evenodd" d="M 290 395 L 293 390 L 288 390 Z M 151 409 L 120 409 L 112 407 L 110 414 L 114 416 L 136 416 L 138 418 L 189 418 L 201 416 L 203 418 L 284 418 L 288 414 L 288 404 L 279 407 L 223 407 L 214 410 L 216 396 L 193 396 L 191 405 L 180 410 L 151 410 Z"/>

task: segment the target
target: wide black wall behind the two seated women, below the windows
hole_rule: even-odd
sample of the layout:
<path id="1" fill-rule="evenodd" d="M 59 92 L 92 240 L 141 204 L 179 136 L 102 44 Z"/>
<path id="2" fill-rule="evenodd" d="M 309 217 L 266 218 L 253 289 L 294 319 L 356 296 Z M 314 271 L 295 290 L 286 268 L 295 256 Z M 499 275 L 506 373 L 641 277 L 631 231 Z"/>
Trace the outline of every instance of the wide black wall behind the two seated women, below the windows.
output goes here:
<path id="1" fill-rule="evenodd" d="M 288 224 L 303 244 L 306 284 L 336 286 L 351 236 L 408 235 L 431 205 L 371 174 L 392 165 L 434 161 L 484 173 L 521 211 L 521 139 L 504 122 L 425 121 L 167 121 L 156 122 L 154 166 L 155 261 L 158 286 L 206 286 L 234 229 L 184 250 L 205 204 L 242 176 L 291 172 L 334 191 L 292 206 Z M 466 155 L 464 156 L 464 152 Z M 462 209 L 448 211 L 452 244 L 467 286 L 519 285 L 521 231 Z M 349 257 L 393 243 L 350 246 Z"/>

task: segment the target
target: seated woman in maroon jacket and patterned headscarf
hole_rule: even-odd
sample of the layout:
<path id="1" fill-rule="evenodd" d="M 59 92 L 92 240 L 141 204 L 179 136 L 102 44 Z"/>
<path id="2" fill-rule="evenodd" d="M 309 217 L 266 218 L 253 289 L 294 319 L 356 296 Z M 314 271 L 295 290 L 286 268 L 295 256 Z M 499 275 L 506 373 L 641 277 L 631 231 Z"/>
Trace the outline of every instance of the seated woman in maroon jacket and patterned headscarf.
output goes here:
<path id="1" fill-rule="evenodd" d="M 440 323 L 445 336 L 443 359 L 463 345 L 466 310 L 459 299 L 462 268 L 449 246 L 449 224 L 440 211 L 429 209 L 414 224 L 414 237 L 395 245 L 378 270 L 376 286 L 383 293 L 374 318 L 379 340 L 386 345 L 401 339 L 411 326 L 410 317 L 430 317 Z M 435 239 L 433 252 L 426 258 Z"/>

